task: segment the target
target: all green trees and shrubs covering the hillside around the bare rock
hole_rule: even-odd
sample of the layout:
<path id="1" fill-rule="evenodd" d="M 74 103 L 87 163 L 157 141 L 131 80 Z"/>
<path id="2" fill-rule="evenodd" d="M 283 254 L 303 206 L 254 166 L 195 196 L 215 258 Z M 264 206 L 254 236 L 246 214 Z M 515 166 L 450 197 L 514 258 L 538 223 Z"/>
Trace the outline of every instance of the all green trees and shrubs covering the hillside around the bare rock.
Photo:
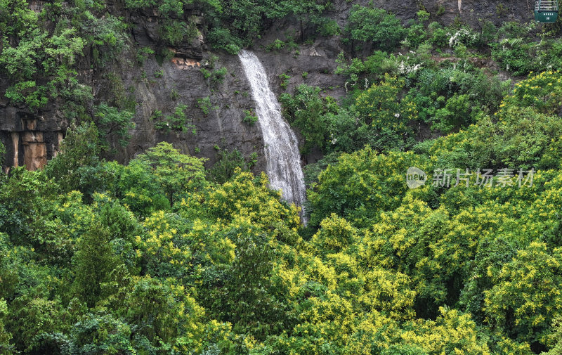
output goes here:
<path id="1" fill-rule="evenodd" d="M 157 13 L 154 48 L 105 1 L 0 0 L 6 103 L 56 103 L 70 122 L 44 169 L 0 173 L 0 354 L 562 354 L 559 22 L 444 26 L 370 3 L 341 26 L 323 0 L 119 6 Z M 237 150 L 213 167 L 166 142 L 109 158 L 136 104 L 93 98 L 84 53 L 96 70 L 124 51 L 142 66 L 204 32 L 228 56 L 280 20 L 300 32 L 267 50 L 348 49 L 325 73 L 344 97 L 306 83 L 279 96 L 301 153 L 322 155 L 305 167 L 306 226 Z M 190 131 L 185 110 L 155 128 Z M 426 174 L 416 188 L 410 168 Z"/>

